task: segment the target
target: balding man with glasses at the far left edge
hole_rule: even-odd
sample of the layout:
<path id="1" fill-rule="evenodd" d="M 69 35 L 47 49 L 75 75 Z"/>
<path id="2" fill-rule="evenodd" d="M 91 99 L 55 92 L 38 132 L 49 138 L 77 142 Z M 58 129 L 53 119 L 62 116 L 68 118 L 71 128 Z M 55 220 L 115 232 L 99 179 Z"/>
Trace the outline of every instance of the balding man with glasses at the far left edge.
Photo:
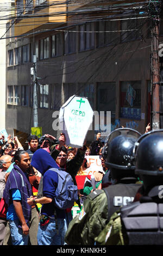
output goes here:
<path id="1" fill-rule="evenodd" d="M 3 191 L 5 188 L 5 175 L 7 174 L 7 169 L 10 167 L 12 163 L 12 157 L 9 155 L 3 155 L 0 157 L 0 200 L 3 196 Z M 7 220 L 0 217 L 0 245 L 3 244 L 5 231 L 7 226 Z"/>

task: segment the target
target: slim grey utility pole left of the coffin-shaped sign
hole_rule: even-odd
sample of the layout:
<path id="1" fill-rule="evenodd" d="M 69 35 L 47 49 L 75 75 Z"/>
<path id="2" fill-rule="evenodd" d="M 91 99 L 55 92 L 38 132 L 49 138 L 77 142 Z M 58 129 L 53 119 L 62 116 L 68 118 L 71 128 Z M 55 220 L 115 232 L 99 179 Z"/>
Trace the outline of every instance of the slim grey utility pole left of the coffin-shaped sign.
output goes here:
<path id="1" fill-rule="evenodd" d="M 34 72 L 33 72 L 33 81 L 34 81 L 34 88 L 33 88 L 33 123 L 34 123 L 34 127 L 38 127 L 36 61 L 37 61 L 37 57 L 36 57 L 36 55 L 33 55 L 33 65 L 34 65 Z"/>

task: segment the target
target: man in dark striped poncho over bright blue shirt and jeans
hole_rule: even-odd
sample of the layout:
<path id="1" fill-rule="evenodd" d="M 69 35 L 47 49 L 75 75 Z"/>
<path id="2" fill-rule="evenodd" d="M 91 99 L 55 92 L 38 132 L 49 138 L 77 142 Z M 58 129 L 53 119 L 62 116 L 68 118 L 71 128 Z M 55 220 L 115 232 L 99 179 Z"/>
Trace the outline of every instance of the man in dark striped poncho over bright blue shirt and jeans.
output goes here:
<path id="1" fill-rule="evenodd" d="M 32 196 L 32 188 L 27 171 L 30 157 L 24 150 L 18 150 L 14 156 L 14 168 L 8 176 L 3 198 L 8 205 L 7 220 L 12 238 L 12 245 L 28 245 L 31 206 L 27 198 Z"/>

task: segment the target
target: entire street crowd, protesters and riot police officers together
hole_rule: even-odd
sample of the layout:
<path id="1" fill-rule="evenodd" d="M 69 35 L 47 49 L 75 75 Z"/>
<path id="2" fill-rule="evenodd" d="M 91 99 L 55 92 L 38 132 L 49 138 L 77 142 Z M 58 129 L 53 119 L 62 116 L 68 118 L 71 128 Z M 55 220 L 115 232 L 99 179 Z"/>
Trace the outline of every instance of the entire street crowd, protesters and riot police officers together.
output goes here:
<path id="1" fill-rule="evenodd" d="M 5 141 L 0 135 L 0 244 L 162 244 L 161 224 L 155 223 L 161 223 L 162 214 L 158 194 L 163 181 L 163 131 L 150 130 L 150 124 L 144 135 L 122 127 L 112 131 L 105 143 L 99 132 L 89 147 L 85 141 L 78 149 L 66 145 L 64 133 L 58 139 L 30 135 L 28 150 L 17 137 L 9 135 Z M 76 176 L 87 175 L 87 155 L 99 156 L 103 173 L 96 172 L 95 184 L 93 178 L 87 179 L 79 190 Z M 71 177 L 70 187 L 66 188 L 66 178 L 59 187 L 61 174 Z M 74 218 L 71 201 L 80 208 Z"/>

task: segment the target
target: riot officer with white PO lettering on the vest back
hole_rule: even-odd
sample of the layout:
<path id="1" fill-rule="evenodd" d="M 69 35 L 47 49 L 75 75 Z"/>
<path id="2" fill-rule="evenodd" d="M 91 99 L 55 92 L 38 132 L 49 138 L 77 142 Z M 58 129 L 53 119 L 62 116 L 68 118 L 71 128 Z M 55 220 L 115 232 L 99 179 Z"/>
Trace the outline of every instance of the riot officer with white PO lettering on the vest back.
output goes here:
<path id="1" fill-rule="evenodd" d="M 65 237 L 68 245 L 94 245 L 110 216 L 121 205 L 133 201 L 141 186 L 137 184 L 132 157 L 134 144 L 140 136 L 133 129 L 120 128 L 106 138 L 102 156 L 116 184 L 87 196 L 80 216 L 73 218 L 68 226 Z"/>

